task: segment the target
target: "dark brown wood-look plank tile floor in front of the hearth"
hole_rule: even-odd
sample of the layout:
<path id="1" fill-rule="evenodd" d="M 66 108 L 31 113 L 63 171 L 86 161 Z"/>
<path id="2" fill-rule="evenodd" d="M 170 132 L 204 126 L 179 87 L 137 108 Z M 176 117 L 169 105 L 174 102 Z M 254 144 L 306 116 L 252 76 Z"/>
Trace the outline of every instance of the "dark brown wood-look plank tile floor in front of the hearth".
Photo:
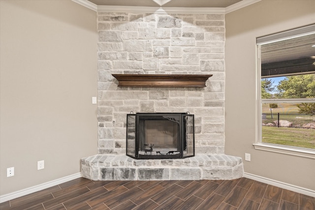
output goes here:
<path id="1" fill-rule="evenodd" d="M 315 210 L 315 198 L 238 180 L 68 181 L 0 204 L 1 210 Z"/>

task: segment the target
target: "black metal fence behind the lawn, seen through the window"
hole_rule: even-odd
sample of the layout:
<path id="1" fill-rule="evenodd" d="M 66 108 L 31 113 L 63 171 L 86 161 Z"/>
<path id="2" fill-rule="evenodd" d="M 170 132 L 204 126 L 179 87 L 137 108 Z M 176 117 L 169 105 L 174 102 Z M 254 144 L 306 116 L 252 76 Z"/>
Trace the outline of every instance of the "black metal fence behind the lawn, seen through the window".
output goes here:
<path id="1" fill-rule="evenodd" d="M 315 129 L 315 115 L 299 113 L 262 113 L 262 125 Z"/>

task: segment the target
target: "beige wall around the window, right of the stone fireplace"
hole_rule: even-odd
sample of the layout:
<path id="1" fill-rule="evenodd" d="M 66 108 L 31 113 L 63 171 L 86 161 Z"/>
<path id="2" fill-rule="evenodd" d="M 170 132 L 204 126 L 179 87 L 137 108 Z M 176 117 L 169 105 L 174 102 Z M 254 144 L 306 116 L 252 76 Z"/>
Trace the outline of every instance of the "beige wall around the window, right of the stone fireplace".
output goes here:
<path id="1" fill-rule="evenodd" d="M 262 0 L 226 21 L 225 153 L 245 158 L 246 173 L 315 190 L 315 159 L 255 150 L 255 38 L 315 23 L 314 0 Z"/>

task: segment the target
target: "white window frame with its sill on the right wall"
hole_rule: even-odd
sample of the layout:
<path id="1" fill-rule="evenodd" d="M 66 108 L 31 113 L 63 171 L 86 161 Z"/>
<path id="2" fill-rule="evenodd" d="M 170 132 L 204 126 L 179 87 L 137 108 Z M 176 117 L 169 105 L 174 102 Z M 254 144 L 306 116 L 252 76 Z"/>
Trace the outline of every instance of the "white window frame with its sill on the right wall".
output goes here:
<path id="1" fill-rule="evenodd" d="M 315 33 L 315 25 L 310 25 L 306 27 L 302 27 L 299 29 L 288 30 L 268 36 L 259 37 L 256 40 L 256 54 L 257 54 L 257 71 L 256 71 L 256 143 L 253 144 L 256 150 L 265 150 L 265 151 L 272 151 L 277 153 L 289 154 L 289 155 L 296 155 L 301 157 L 308 157 L 315 159 L 315 150 L 313 149 L 306 149 L 306 148 L 298 148 L 298 147 L 291 147 L 291 146 L 284 146 L 284 145 L 276 145 L 276 144 L 269 144 L 263 143 L 261 141 L 262 136 L 262 104 L 263 103 L 281 103 L 281 102 L 289 102 L 289 103 L 305 103 L 305 102 L 312 102 L 315 103 L 315 98 L 297 98 L 297 99 L 261 99 L 261 60 L 260 60 L 260 49 L 261 45 L 272 43 L 284 39 L 289 39 L 292 37 L 307 35 Z M 315 72 L 307 72 L 315 73 Z M 289 75 L 289 74 L 288 74 Z M 282 76 L 288 76 L 282 75 Z M 292 75 L 292 74 L 291 74 Z"/>

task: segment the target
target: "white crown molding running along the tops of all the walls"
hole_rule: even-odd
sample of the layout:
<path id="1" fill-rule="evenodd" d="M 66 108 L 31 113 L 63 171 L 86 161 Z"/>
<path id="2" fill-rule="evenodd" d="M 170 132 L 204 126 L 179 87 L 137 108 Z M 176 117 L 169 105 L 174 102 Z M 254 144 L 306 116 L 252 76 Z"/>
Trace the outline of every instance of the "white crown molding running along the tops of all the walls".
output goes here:
<path id="1" fill-rule="evenodd" d="M 154 13 L 154 14 L 227 14 L 260 0 L 242 0 L 225 8 L 218 7 L 156 7 L 156 6 L 107 6 L 89 0 L 72 0 L 96 12 Z"/>

